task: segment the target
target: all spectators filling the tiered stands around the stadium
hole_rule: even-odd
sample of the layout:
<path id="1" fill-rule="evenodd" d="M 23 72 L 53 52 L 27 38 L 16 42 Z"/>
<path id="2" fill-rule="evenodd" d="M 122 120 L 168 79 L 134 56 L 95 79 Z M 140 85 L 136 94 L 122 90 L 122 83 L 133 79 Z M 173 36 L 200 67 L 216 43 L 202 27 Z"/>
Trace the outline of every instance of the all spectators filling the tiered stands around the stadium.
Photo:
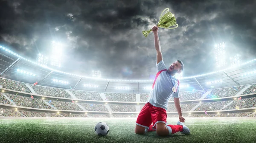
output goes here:
<path id="1" fill-rule="evenodd" d="M 8 88 L 10 90 L 17 90 L 21 92 L 31 93 L 26 84 L 12 81 L 9 79 L 0 78 L 0 85 L 3 88 Z M 47 96 L 55 96 L 61 98 L 72 98 L 72 96 L 67 93 L 64 89 L 58 89 L 53 87 L 43 87 L 39 85 L 28 84 L 32 87 L 32 89 L 39 95 L 47 95 Z M 233 87 L 222 88 L 212 90 L 209 95 L 205 98 L 220 98 L 220 97 L 228 97 L 234 96 L 239 91 L 241 91 L 245 86 L 237 86 L 236 90 Z M 102 101 L 101 93 L 98 92 L 90 92 L 90 91 L 78 91 L 78 90 L 70 90 L 70 92 L 75 95 L 79 99 L 84 100 L 96 100 Z M 186 100 L 197 100 L 202 97 L 207 90 L 201 91 L 191 91 L 191 92 L 180 92 L 180 101 Z M 256 93 L 256 84 L 251 85 L 247 90 L 243 92 L 243 94 Z M 127 101 L 127 102 L 135 102 L 136 94 L 135 93 L 104 93 L 107 101 Z M 6 98 L 7 96 L 8 98 Z M 146 102 L 149 94 L 140 94 L 140 101 Z M 171 98 L 170 101 L 173 101 Z M 39 109 L 58 109 L 58 110 L 75 110 L 75 111 L 83 111 L 83 108 L 79 107 L 78 103 L 72 102 L 64 102 L 64 101 L 49 101 L 43 100 L 39 98 L 30 98 L 21 95 L 11 95 L 9 93 L 0 93 L 0 103 L 1 104 L 12 104 L 14 102 L 17 106 L 22 107 L 31 107 L 31 108 L 39 108 Z M 109 112 L 106 108 L 105 104 L 80 104 L 86 111 L 99 111 L 99 112 Z M 181 104 L 181 109 L 183 112 L 191 111 L 193 107 L 198 104 Z M 113 112 L 136 112 L 136 105 L 111 105 L 108 104 Z M 144 105 L 140 106 L 140 109 L 143 108 Z M 241 100 L 233 100 L 233 101 L 218 101 L 218 102 L 208 102 L 202 103 L 198 107 L 195 108 L 194 111 L 213 111 L 213 110 L 223 110 L 227 109 L 236 109 L 236 107 L 242 108 L 251 108 L 256 107 L 256 97 L 253 98 L 242 98 Z M 15 111 L 15 109 L 1 109 L 2 113 L 0 116 L 27 116 L 27 117 L 110 117 L 110 115 L 95 115 L 95 114 L 57 114 L 57 113 L 44 113 L 44 112 L 30 112 L 19 110 Z M 167 112 L 177 112 L 174 104 L 170 104 L 168 106 Z M 216 117 L 237 117 L 237 116 L 245 116 L 249 113 L 230 113 L 227 114 L 219 114 Z M 253 114 L 255 116 L 255 114 Z M 252 116 L 253 116 L 252 115 Z M 114 117 L 137 117 L 137 115 L 112 115 Z M 168 115 L 168 117 L 173 117 L 175 115 Z M 209 115 L 188 115 L 189 117 L 211 117 L 214 114 Z"/>

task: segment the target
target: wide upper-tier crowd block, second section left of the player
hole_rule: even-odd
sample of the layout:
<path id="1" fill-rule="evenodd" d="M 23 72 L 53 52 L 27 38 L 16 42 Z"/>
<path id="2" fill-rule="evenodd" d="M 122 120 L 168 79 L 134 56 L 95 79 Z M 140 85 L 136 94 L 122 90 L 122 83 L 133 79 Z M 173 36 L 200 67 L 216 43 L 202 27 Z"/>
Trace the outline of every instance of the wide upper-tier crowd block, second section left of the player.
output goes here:
<path id="1" fill-rule="evenodd" d="M 136 101 L 136 94 L 134 93 L 105 93 L 105 95 L 108 101 Z"/>

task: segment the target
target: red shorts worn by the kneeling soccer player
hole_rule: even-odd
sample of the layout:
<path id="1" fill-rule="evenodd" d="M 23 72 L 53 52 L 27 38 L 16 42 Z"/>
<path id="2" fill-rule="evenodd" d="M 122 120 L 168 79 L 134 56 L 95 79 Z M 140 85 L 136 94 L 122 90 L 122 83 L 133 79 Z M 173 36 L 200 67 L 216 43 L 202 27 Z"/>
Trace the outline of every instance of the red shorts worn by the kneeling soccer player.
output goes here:
<path id="1" fill-rule="evenodd" d="M 166 109 L 146 103 L 138 115 L 136 125 L 149 129 L 149 126 L 153 123 L 153 129 L 155 129 L 157 123 L 166 123 L 166 118 Z"/>

